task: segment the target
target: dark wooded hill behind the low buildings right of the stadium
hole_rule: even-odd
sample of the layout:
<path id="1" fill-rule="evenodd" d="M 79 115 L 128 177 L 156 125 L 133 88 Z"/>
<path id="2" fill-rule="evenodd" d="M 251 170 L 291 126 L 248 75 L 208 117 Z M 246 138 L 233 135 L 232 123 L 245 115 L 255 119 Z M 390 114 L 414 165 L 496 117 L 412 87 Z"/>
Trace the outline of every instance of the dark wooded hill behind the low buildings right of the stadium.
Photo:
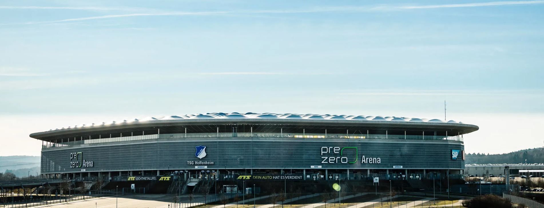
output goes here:
<path id="1" fill-rule="evenodd" d="M 505 154 L 471 153 L 466 155 L 465 164 L 502 164 L 502 163 L 544 163 L 544 148 L 523 149 Z"/>

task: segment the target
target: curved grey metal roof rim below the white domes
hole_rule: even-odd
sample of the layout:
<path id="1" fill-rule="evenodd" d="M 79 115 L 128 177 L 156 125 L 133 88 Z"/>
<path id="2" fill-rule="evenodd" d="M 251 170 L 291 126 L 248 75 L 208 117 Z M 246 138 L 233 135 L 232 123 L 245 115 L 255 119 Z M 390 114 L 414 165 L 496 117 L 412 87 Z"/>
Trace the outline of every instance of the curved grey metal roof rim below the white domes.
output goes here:
<path id="1" fill-rule="evenodd" d="M 33 133 L 32 138 L 48 136 L 61 136 L 73 133 L 88 133 L 89 131 L 101 131 L 112 129 L 126 129 L 138 127 L 162 127 L 169 125 L 196 125 L 196 124 L 296 124 L 296 125 L 338 125 L 338 126 L 361 126 L 361 127 L 405 127 L 405 128 L 428 128 L 431 129 L 456 129 L 468 132 L 479 129 L 477 125 L 461 123 L 434 123 L 434 122 L 396 122 L 396 121 L 353 121 L 353 120 L 313 120 L 313 119 L 287 119 L 287 118 L 209 118 L 209 119 L 170 119 L 152 120 L 138 122 L 124 122 L 115 124 L 95 124 L 85 127 L 57 129 Z"/>

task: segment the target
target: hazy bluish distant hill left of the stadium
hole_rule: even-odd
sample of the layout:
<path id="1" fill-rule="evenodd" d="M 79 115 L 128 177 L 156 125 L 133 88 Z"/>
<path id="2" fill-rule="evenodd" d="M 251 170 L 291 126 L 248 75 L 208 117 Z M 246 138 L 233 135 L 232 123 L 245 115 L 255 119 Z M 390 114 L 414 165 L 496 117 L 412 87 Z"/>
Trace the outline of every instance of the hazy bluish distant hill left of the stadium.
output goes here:
<path id="1" fill-rule="evenodd" d="M 7 170 L 17 177 L 27 177 L 28 171 L 31 175 L 36 175 L 36 172 L 40 172 L 40 156 L 0 156 L 0 173 Z"/>

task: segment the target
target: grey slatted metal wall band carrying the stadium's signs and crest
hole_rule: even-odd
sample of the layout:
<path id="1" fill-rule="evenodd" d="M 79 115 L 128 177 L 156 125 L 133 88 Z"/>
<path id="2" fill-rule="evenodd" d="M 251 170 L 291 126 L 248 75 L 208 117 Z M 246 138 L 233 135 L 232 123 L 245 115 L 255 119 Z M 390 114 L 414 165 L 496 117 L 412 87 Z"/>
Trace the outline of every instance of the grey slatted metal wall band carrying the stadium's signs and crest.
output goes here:
<path id="1" fill-rule="evenodd" d="M 276 140 L 275 140 L 276 139 Z M 206 157 L 195 156 L 196 146 L 206 146 Z M 357 147 L 345 149 L 343 155 L 321 154 L 322 147 Z M 452 149 L 463 150 L 455 141 L 328 141 L 277 140 L 277 138 L 200 138 L 195 140 L 157 139 L 146 142 L 110 142 L 83 147 L 42 150 L 41 173 L 130 171 L 156 169 L 195 169 L 188 161 L 213 161 L 207 169 L 464 169 L 459 157 L 452 160 Z M 331 149 L 333 152 L 333 149 Z M 70 153 L 81 152 L 94 167 L 70 168 Z M 361 163 L 362 156 L 379 157 L 381 163 Z M 322 163 L 322 157 L 347 157 L 355 163 Z M 76 160 L 72 160 L 76 161 Z"/>

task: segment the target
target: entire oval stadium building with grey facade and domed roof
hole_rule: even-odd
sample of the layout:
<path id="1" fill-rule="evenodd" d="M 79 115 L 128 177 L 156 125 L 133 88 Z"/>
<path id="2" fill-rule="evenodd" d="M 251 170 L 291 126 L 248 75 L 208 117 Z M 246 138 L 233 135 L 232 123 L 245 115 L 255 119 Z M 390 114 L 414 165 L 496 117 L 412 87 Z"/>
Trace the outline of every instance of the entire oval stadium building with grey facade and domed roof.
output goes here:
<path id="1" fill-rule="evenodd" d="M 46 178 L 403 180 L 463 174 L 463 135 L 475 130 L 440 119 L 233 112 L 74 125 L 30 137 L 42 141 Z"/>

